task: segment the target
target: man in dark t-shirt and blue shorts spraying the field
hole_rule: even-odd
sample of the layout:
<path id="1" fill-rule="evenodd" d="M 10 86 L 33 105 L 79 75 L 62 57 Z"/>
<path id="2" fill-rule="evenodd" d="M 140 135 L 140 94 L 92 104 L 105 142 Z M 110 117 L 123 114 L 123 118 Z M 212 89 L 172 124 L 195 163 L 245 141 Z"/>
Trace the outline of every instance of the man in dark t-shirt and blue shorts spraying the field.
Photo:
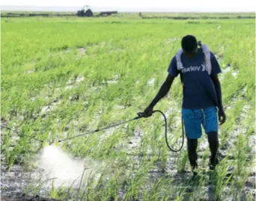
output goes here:
<path id="1" fill-rule="evenodd" d="M 222 106 L 221 84 L 218 78 L 218 73 L 221 72 L 221 69 L 213 52 L 210 52 L 212 69 L 210 72 L 207 72 L 204 52 L 201 48 L 198 49 L 198 42 L 194 36 L 186 35 L 183 37 L 181 47 L 180 61 L 183 64 L 183 69 L 179 70 L 177 68 L 177 57 L 174 56 L 168 67 L 168 76 L 165 82 L 142 115 L 143 117 L 150 117 L 152 115 L 153 107 L 168 93 L 174 78 L 180 74 L 181 81 L 183 82 L 182 116 L 187 138 L 189 162 L 192 172 L 196 175 L 195 168 L 198 167 L 196 149 L 198 138 L 201 137 L 201 125 L 207 133 L 210 145 L 210 170 L 215 170 L 216 164 L 218 164 L 217 108 L 220 125 L 225 123 L 226 120 Z"/>

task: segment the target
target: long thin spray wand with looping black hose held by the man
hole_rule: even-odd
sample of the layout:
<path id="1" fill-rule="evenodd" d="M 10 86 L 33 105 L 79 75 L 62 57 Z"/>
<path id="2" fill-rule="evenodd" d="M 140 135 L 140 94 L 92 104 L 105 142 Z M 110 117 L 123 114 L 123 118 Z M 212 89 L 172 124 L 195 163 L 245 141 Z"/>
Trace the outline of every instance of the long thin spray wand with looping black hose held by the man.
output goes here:
<path id="1" fill-rule="evenodd" d="M 168 138 L 167 138 L 167 120 L 166 120 L 165 114 L 164 114 L 162 111 L 159 111 L 159 110 L 153 111 L 153 113 L 156 113 L 156 112 L 159 112 L 160 114 L 162 114 L 162 117 L 164 117 L 164 121 L 165 121 L 165 142 L 166 142 L 166 145 L 168 146 L 168 149 L 170 149 L 172 152 L 179 152 L 179 151 L 183 148 L 183 144 L 184 144 L 183 118 L 182 118 L 182 144 L 181 144 L 181 146 L 180 146 L 180 149 L 174 150 L 174 149 L 171 149 L 171 146 L 169 146 L 169 143 L 168 143 Z M 138 116 L 135 117 L 135 118 L 133 118 L 132 120 L 127 120 L 127 121 L 124 121 L 124 122 L 121 122 L 121 123 L 117 123 L 117 124 L 112 125 L 112 126 L 107 126 L 107 127 L 105 127 L 105 128 L 96 129 L 96 130 L 91 131 L 91 132 L 85 132 L 85 133 L 82 133 L 82 134 L 78 134 L 78 135 L 75 135 L 75 136 L 73 136 L 73 137 L 67 137 L 67 138 L 64 138 L 64 139 L 62 139 L 62 140 L 58 140 L 58 143 L 61 143 L 61 142 L 65 141 L 65 140 L 71 140 L 71 139 L 73 139 L 73 138 L 75 138 L 75 137 L 81 137 L 81 136 L 83 136 L 83 135 L 85 135 L 85 134 L 91 134 L 91 133 L 94 133 L 94 132 L 100 132 L 100 131 L 102 131 L 102 130 L 110 129 L 110 128 L 115 127 L 115 126 L 120 126 L 121 124 L 129 123 L 129 122 L 131 122 L 131 121 L 133 121 L 133 120 L 141 119 L 142 117 L 144 117 L 144 113 L 138 113 Z M 1 127 L 4 128 L 4 129 L 8 129 L 8 130 L 10 130 L 10 131 L 16 132 L 15 130 L 10 129 L 10 128 L 8 128 L 7 126 L 1 126 Z M 20 132 L 16 132 L 16 133 L 19 134 Z M 23 134 L 23 133 L 20 133 L 20 134 Z M 30 137 L 31 139 L 38 140 L 38 141 L 40 141 L 41 143 L 44 142 L 44 140 L 40 140 L 40 139 L 38 139 L 38 138 L 36 138 L 36 137 L 31 137 L 31 136 L 29 136 L 28 134 L 23 134 L 23 135 L 26 136 L 26 137 Z M 49 145 L 51 145 L 52 143 L 53 143 L 53 142 L 49 143 Z"/>

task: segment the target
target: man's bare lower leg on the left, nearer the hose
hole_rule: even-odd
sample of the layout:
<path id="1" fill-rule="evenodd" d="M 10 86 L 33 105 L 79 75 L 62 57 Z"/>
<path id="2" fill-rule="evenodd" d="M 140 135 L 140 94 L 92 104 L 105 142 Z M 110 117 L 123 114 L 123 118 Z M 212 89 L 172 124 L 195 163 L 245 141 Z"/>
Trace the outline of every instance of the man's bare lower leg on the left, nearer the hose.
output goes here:
<path id="1" fill-rule="evenodd" d="M 192 171 L 194 173 L 195 168 L 198 167 L 197 160 L 198 154 L 196 152 L 196 148 L 198 147 L 198 139 L 189 139 L 188 141 L 188 155 L 189 155 L 189 162 L 192 167 Z"/>

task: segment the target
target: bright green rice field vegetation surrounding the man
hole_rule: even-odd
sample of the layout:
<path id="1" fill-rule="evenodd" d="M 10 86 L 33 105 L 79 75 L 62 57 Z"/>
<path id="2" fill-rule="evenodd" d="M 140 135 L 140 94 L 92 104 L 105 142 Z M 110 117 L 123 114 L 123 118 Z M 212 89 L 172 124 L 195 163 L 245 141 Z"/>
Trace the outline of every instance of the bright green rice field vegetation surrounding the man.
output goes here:
<path id="1" fill-rule="evenodd" d="M 210 46 L 224 71 L 228 120 L 220 128 L 222 161 L 211 183 L 203 170 L 208 146 L 198 147 L 202 177 L 191 183 L 186 143 L 179 153 L 169 152 L 162 118 L 155 114 L 59 144 L 76 157 L 111 168 L 103 169 L 100 179 L 91 176 L 86 188 L 52 185 L 49 195 L 62 200 L 204 200 L 212 189 L 219 200 L 240 200 L 255 165 L 255 19 L 2 18 L 1 124 L 46 141 L 1 130 L 4 162 L 9 168 L 29 163 L 50 140 L 135 117 L 156 95 L 185 34 Z M 155 108 L 168 114 L 174 149 L 180 146 L 174 142 L 181 134 L 181 100 L 177 78 Z M 204 135 L 200 144 L 206 142 Z M 252 197 L 249 191 L 243 199 Z"/>

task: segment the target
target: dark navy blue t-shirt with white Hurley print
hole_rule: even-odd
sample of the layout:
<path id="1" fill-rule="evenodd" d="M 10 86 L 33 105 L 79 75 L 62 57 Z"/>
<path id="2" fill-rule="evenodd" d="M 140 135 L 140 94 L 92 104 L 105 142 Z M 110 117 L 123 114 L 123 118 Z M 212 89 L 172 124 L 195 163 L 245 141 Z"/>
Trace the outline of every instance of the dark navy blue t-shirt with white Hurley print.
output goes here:
<path id="1" fill-rule="evenodd" d="M 212 74 L 216 75 L 221 71 L 219 63 L 213 52 L 210 52 L 210 61 L 212 64 Z M 204 52 L 198 49 L 194 58 L 188 58 L 181 55 L 183 69 L 177 69 L 175 56 L 171 59 L 168 67 L 168 73 L 176 77 L 180 73 L 183 79 L 183 108 L 201 109 L 218 105 L 216 89 L 210 75 L 205 69 Z"/>

